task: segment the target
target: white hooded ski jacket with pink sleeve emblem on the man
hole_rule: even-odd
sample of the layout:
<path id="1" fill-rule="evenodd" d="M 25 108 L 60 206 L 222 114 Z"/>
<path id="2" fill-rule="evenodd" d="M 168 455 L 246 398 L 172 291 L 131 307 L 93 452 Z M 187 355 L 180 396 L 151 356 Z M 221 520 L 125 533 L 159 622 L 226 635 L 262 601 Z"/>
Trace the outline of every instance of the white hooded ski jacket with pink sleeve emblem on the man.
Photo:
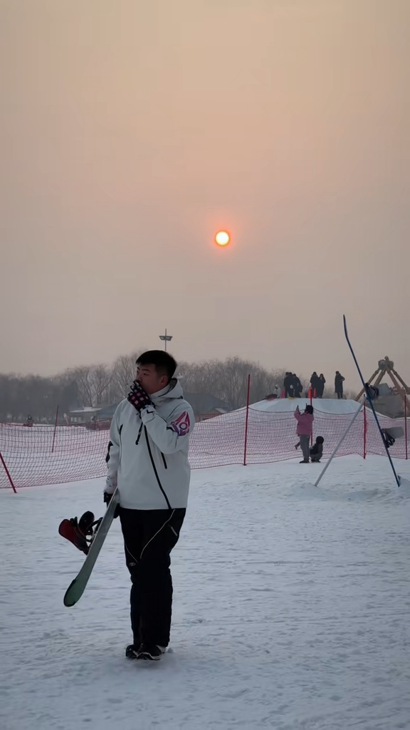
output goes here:
<path id="1" fill-rule="evenodd" d="M 181 385 L 171 383 L 150 396 L 141 416 L 121 401 L 109 431 L 105 490 L 118 486 L 120 506 L 128 510 L 186 507 L 190 485 L 189 434 L 195 419 Z"/>

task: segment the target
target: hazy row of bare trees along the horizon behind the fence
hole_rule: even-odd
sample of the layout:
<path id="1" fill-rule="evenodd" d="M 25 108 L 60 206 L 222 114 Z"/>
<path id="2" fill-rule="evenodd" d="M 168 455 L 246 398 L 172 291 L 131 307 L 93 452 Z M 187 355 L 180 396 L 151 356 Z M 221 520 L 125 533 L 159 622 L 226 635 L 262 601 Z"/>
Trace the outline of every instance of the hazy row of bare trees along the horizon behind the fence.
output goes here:
<path id="1" fill-rule="evenodd" d="M 118 357 L 112 366 L 98 364 L 67 369 L 54 377 L 0 374 L 0 420 L 23 422 L 30 414 L 36 422 L 53 423 L 57 406 L 64 413 L 85 406 L 119 403 L 128 393 L 140 352 Z M 285 371 L 267 370 L 239 357 L 180 362 L 177 375 L 186 393 L 212 395 L 235 410 L 247 400 L 247 376 L 251 375 L 250 402 L 255 403 L 282 387 Z M 303 392 L 309 381 L 303 380 Z M 333 391 L 325 391 L 325 397 Z"/>

